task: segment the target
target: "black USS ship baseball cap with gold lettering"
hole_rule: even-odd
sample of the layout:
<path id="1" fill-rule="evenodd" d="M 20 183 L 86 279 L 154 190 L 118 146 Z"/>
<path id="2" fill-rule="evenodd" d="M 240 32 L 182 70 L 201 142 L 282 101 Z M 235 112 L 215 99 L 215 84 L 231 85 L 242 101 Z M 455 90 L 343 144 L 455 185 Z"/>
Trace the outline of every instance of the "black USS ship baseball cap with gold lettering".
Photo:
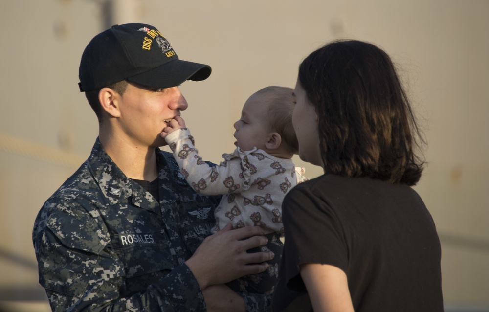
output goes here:
<path id="1" fill-rule="evenodd" d="M 200 81 L 211 67 L 178 59 L 177 53 L 153 26 L 114 25 L 96 35 L 83 51 L 78 83 L 86 92 L 121 80 L 154 88 L 169 88 L 186 80 Z"/>

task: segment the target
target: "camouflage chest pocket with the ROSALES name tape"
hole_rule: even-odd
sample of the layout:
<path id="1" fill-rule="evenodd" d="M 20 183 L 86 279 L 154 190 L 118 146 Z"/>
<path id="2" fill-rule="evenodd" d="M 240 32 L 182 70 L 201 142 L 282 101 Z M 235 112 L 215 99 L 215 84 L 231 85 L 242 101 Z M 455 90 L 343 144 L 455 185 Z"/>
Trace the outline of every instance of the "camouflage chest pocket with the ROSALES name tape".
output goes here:
<path id="1" fill-rule="evenodd" d="M 164 232 L 113 235 L 111 243 L 124 264 L 126 278 L 175 267 L 175 252 L 172 252 Z"/>

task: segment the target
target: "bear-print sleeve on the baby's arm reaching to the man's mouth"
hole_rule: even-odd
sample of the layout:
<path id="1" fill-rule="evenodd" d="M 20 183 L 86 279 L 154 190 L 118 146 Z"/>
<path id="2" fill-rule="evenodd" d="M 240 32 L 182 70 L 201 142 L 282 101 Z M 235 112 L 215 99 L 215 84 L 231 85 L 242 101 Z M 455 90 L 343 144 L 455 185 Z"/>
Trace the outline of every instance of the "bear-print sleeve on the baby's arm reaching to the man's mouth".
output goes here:
<path id="1" fill-rule="evenodd" d="M 249 188 L 249 174 L 244 173 L 240 157 L 232 157 L 220 165 L 202 160 L 195 148 L 194 138 L 187 128 L 168 134 L 166 141 L 180 171 L 196 192 L 204 195 L 240 193 Z"/>

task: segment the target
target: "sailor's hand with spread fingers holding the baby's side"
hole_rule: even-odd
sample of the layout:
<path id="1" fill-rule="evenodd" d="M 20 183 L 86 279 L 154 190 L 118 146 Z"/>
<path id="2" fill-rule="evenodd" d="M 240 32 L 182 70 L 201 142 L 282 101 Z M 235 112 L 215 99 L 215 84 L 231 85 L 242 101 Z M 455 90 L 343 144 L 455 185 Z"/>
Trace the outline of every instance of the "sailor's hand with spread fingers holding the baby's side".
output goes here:
<path id="1" fill-rule="evenodd" d="M 228 223 L 221 231 L 210 235 L 185 264 L 199 282 L 201 290 L 207 286 L 230 282 L 247 274 L 265 271 L 265 261 L 273 259 L 273 252 L 247 253 L 246 250 L 267 244 L 259 226 L 245 226 L 231 230 Z"/>

